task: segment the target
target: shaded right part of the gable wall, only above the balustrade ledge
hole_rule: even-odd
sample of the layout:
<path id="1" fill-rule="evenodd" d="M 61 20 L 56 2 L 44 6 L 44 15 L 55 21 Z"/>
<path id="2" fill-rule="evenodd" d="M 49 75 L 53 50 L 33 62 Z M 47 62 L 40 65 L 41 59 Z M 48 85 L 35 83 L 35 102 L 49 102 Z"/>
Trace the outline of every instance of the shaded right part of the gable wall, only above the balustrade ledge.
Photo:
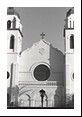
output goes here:
<path id="1" fill-rule="evenodd" d="M 64 76 L 64 55 L 61 51 L 50 46 L 51 77 L 49 81 L 63 82 Z"/>

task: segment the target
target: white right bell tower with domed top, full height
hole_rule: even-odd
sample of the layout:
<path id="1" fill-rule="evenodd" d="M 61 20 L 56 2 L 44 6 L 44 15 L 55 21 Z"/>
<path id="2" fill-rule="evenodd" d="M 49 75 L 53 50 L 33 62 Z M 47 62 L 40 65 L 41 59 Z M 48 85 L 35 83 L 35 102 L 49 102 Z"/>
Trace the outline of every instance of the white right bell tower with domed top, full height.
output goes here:
<path id="1" fill-rule="evenodd" d="M 66 104 L 74 97 L 74 8 L 66 13 L 64 26 Z"/>

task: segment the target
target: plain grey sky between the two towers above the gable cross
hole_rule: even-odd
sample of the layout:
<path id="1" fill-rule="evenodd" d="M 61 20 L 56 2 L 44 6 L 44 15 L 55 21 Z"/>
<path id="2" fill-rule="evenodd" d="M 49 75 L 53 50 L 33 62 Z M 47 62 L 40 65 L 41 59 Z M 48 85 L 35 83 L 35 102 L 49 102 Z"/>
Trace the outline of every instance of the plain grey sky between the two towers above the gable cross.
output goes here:
<path id="1" fill-rule="evenodd" d="M 22 51 L 38 42 L 41 39 L 40 34 L 44 32 L 44 39 L 54 48 L 64 52 L 64 20 L 70 7 L 15 7 L 15 9 L 20 14 L 23 25 Z"/>

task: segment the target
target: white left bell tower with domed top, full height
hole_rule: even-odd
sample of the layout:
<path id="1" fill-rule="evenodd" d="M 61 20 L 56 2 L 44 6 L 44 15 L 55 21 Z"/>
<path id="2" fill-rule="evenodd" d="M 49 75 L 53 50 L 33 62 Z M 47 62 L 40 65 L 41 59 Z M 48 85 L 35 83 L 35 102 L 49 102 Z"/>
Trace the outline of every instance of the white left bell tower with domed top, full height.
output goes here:
<path id="1" fill-rule="evenodd" d="M 19 57 L 22 50 L 22 25 L 13 7 L 7 9 L 7 102 L 13 102 L 18 85 Z M 10 97 L 10 98 L 9 98 Z M 15 97 L 16 98 L 16 97 Z"/>

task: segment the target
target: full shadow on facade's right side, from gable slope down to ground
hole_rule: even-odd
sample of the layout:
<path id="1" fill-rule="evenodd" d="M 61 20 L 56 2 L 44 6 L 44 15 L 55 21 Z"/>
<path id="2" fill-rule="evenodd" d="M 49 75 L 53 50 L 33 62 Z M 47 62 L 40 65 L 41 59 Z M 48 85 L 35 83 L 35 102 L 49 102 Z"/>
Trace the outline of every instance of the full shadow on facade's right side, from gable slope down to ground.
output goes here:
<path id="1" fill-rule="evenodd" d="M 54 107 L 65 107 L 64 98 L 64 55 L 61 51 L 50 46 L 51 77 L 49 81 L 56 81 Z"/>

